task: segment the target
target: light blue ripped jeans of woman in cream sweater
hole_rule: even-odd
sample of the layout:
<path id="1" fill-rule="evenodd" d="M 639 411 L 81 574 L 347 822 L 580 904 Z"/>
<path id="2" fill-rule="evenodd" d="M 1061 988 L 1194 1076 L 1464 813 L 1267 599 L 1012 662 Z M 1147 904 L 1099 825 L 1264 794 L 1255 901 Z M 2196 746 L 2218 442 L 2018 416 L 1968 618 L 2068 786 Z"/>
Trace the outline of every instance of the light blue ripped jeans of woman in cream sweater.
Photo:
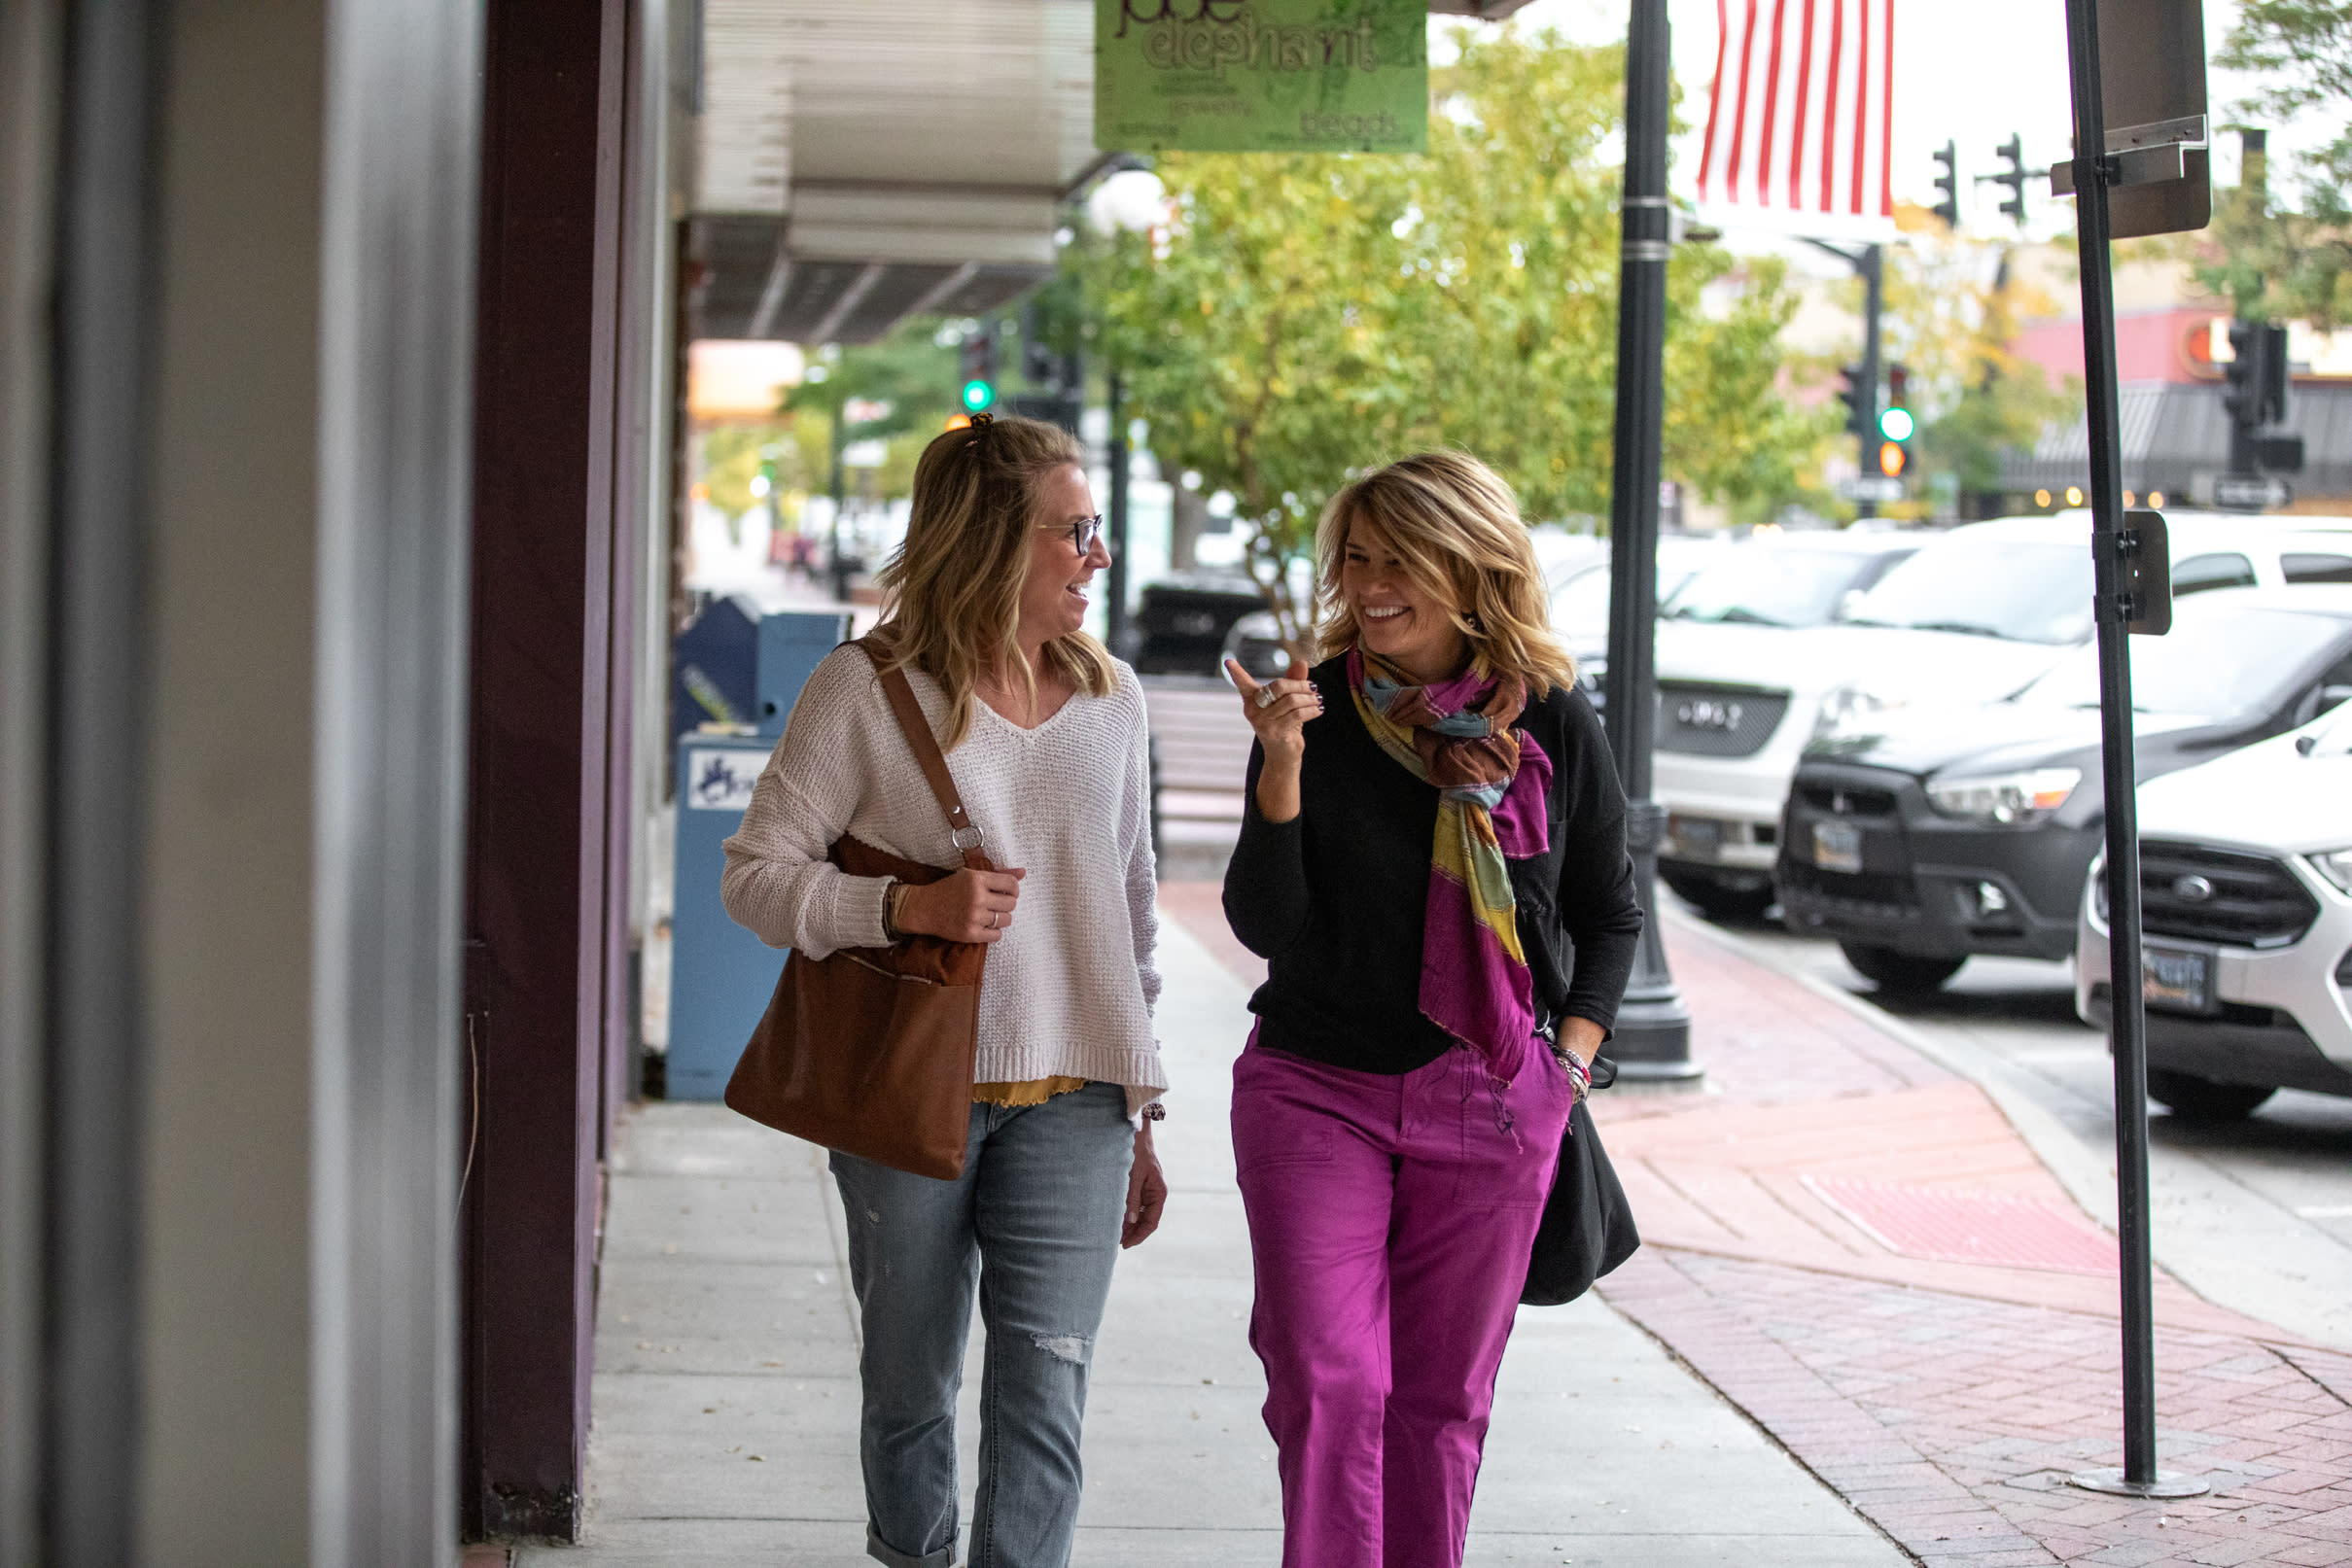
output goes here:
<path id="1" fill-rule="evenodd" d="M 971 1568 L 1065 1568 L 1077 1432 L 1110 1295 L 1134 1161 L 1127 1091 L 974 1105 L 964 1175 L 833 1157 L 858 1293 L 866 1552 L 891 1568 L 955 1561 L 955 1394 L 981 1291 L 981 1474 Z"/>

